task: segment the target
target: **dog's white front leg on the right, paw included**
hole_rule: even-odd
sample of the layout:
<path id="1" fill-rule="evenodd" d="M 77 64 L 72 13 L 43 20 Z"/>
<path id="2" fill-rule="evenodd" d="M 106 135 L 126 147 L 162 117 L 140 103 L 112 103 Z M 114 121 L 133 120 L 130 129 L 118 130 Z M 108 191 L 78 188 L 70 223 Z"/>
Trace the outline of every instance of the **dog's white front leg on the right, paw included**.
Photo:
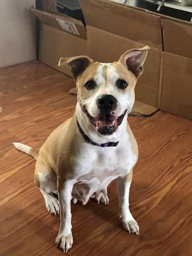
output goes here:
<path id="1" fill-rule="evenodd" d="M 117 189 L 119 197 L 119 206 L 120 206 L 120 215 L 122 219 L 122 224 L 125 230 L 129 233 L 135 233 L 139 235 L 139 225 L 134 220 L 130 210 L 129 210 L 129 192 L 132 181 L 132 172 L 131 170 L 124 177 L 118 177 L 117 179 Z"/>

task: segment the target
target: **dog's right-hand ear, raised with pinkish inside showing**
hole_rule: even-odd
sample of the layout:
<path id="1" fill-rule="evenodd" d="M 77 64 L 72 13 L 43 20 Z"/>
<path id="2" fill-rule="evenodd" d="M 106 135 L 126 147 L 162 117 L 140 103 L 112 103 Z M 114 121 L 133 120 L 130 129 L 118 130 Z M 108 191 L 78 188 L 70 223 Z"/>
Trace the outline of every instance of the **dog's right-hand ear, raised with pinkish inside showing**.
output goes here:
<path id="1" fill-rule="evenodd" d="M 121 55 L 118 62 L 126 66 L 137 79 L 143 73 L 143 63 L 147 58 L 149 46 L 142 47 L 140 49 L 132 49 Z"/>

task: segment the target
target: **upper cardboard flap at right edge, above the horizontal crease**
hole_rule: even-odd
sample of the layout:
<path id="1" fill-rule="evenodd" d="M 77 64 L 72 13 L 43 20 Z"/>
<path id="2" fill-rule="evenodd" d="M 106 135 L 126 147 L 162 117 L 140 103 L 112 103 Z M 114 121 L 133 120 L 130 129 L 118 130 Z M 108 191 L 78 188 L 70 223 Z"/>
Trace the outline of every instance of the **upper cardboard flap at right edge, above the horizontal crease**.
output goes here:
<path id="1" fill-rule="evenodd" d="M 192 25 L 162 21 L 164 51 L 192 59 Z"/>

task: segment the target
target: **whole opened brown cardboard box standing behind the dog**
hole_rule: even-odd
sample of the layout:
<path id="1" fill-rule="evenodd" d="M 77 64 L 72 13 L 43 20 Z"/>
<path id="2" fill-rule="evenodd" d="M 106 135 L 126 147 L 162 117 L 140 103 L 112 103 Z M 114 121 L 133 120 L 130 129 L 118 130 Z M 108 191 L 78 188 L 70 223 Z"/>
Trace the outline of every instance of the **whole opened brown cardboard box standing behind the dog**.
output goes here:
<path id="1" fill-rule="evenodd" d="M 81 0 L 86 29 L 79 20 L 57 13 L 54 0 L 43 11 L 39 60 L 58 67 L 60 57 L 88 55 L 111 62 L 132 48 L 149 45 L 144 73 L 135 89 L 134 113 L 150 115 L 158 108 L 192 119 L 192 26 L 135 7 L 104 0 Z M 47 2 L 47 3 L 48 3 Z M 51 6 L 51 7 L 50 7 Z"/>

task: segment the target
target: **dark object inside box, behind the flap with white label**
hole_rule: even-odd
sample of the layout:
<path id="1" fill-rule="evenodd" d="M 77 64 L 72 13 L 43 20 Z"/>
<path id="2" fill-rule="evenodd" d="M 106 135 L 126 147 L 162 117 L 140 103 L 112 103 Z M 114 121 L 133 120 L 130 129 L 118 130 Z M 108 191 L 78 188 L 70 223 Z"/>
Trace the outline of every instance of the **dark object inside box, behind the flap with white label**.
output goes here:
<path id="1" fill-rule="evenodd" d="M 79 0 L 57 0 L 58 12 L 77 20 L 81 20 L 85 26 L 85 19 Z"/>

